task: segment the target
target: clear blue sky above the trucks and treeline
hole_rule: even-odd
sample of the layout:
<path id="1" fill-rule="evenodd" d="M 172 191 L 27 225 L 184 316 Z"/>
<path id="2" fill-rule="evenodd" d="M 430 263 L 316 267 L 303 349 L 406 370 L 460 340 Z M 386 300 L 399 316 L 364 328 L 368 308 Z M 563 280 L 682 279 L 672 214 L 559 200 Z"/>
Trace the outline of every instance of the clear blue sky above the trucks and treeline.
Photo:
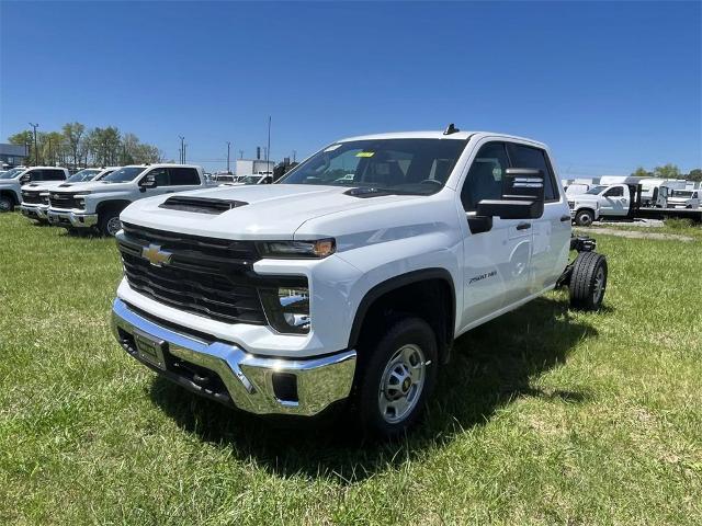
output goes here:
<path id="1" fill-rule="evenodd" d="M 0 2 L 0 139 L 116 125 L 178 159 L 365 133 L 543 140 L 564 174 L 702 165 L 701 2 Z"/>

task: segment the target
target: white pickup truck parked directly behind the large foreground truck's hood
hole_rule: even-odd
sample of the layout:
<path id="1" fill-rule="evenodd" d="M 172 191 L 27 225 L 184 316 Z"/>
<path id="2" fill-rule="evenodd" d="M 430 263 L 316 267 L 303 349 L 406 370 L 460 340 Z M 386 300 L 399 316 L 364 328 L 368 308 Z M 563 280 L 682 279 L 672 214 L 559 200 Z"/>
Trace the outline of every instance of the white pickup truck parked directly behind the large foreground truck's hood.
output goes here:
<path id="1" fill-rule="evenodd" d="M 98 228 L 114 236 L 120 213 L 131 203 L 160 194 L 206 186 L 202 168 L 191 164 L 122 167 L 100 181 L 49 192 L 48 220 L 66 228 Z"/>

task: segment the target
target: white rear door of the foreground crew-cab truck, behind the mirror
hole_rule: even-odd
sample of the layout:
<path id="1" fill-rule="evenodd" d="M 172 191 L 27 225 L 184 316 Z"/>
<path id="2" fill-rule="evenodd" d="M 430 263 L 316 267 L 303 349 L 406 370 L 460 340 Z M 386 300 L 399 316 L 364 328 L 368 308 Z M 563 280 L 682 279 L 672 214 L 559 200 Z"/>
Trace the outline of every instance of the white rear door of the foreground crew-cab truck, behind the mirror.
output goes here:
<path id="1" fill-rule="evenodd" d="M 539 294 L 556 283 L 570 249 L 570 210 L 548 153 L 531 145 L 509 142 L 513 168 L 531 168 L 544 174 L 544 213 L 528 219 L 533 236 L 529 291 Z"/>

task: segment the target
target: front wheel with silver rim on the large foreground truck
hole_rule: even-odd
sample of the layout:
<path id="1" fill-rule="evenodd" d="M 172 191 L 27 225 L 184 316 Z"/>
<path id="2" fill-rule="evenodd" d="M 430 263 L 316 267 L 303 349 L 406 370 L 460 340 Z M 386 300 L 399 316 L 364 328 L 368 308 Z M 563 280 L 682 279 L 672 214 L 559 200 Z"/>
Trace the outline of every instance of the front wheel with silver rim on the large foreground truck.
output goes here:
<path id="1" fill-rule="evenodd" d="M 362 350 L 356 396 L 363 427 L 382 438 L 401 435 L 419 420 L 437 380 L 437 339 L 419 318 L 393 323 Z"/>

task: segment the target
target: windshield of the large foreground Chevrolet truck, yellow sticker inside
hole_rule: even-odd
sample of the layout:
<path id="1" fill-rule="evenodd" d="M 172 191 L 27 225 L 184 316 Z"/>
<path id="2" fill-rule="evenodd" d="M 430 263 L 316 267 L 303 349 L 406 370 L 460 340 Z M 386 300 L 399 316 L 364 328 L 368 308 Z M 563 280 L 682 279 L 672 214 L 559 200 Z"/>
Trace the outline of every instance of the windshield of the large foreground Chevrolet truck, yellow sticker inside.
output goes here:
<path id="1" fill-rule="evenodd" d="M 367 187 L 398 194 L 439 192 L 463 152 L 460 139 L 373 139 L 331 145 L 290 171 L 282 184 Z"/>

